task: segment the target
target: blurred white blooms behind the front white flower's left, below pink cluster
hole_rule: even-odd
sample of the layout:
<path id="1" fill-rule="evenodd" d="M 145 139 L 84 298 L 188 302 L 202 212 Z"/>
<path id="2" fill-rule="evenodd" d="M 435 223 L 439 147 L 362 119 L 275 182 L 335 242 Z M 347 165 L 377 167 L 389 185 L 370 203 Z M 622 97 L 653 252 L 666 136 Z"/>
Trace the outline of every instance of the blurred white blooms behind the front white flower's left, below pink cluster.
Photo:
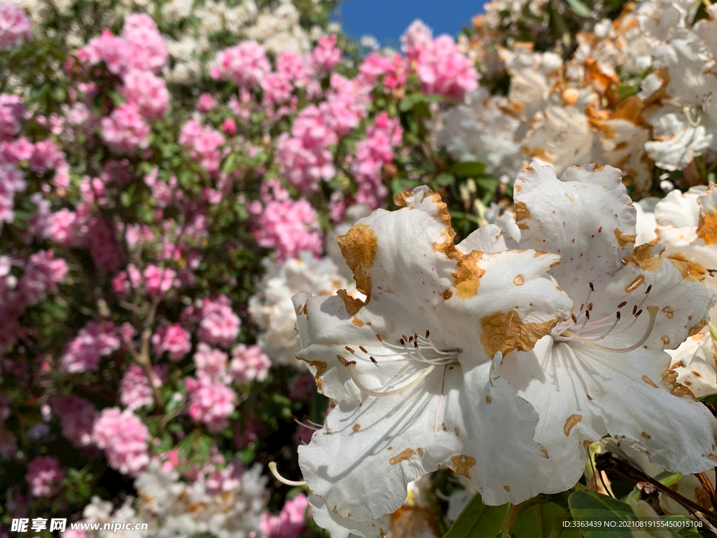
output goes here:
<path id="1" fill-rule="evenodd" d="M 308 252 L 282 265 L 267 259 L 264 266 L 267 272 L 259 291 L 249 299 L 249 314 L 261 329 L 259 343 L 270 359 L 296 365 L 296 316 L 291 298 L 300 291 L 328 295 L 348 284 L 329 258 L 316 260 Z"/>

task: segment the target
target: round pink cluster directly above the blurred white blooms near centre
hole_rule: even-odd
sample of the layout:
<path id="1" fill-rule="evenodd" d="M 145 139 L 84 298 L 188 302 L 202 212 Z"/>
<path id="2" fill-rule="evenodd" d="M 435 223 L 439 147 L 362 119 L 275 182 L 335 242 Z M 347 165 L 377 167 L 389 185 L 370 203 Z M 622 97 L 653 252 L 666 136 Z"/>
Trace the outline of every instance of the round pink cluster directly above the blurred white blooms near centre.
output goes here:
<path id="1" fill-rule="evenodd" d="M 323 240 L 315 210 L 306 200 L 272 200 L 255 215 L 254 237 L 261 247 L 276 250 L 277 262 L 296 258 L 302 250 L 321 255 Z"/>

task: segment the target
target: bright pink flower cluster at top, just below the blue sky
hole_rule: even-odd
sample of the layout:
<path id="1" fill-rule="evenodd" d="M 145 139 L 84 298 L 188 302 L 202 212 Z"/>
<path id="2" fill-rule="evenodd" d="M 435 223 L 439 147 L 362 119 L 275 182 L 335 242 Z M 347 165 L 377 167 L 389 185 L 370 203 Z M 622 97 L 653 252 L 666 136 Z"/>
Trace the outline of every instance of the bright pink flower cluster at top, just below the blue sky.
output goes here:
<path id="1" fill-rule="evenodd" d="M 460 101 L 478 88 L 478 72 L 473 62 L 461 54 L 452 37 L 432 37 L 421 22 L 414 22 L 402 37 L 410 60 L 416 62 L 416 74 L 424 93 L 443 95 Z"/>

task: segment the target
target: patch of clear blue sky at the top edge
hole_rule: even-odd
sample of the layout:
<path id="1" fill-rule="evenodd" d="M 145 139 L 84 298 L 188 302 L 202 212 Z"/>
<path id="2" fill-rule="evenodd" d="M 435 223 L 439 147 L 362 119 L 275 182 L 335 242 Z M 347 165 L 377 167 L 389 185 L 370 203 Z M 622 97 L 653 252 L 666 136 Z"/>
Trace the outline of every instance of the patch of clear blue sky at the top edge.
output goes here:
<path id="1" fill-rule="evenodd" d="M 404 29 L 422 19 L 434 34 L 455 34 L 483 11 L 483 0 L 343 0 L 334 19 L 353 37 L 371 34 L 397 45 Z"/>

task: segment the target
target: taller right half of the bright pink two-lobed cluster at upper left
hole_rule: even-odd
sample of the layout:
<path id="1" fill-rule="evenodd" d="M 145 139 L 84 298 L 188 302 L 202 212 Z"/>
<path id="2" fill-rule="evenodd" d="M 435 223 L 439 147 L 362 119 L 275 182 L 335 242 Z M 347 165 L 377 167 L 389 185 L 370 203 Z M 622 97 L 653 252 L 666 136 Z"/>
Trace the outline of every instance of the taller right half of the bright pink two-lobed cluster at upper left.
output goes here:
<path id="1" fill-rule="evenodd" d="M 129 68 L 158 73 L 167 65 L 169 52 L 151 16 L 133 13 L 122 29 Z"/>

